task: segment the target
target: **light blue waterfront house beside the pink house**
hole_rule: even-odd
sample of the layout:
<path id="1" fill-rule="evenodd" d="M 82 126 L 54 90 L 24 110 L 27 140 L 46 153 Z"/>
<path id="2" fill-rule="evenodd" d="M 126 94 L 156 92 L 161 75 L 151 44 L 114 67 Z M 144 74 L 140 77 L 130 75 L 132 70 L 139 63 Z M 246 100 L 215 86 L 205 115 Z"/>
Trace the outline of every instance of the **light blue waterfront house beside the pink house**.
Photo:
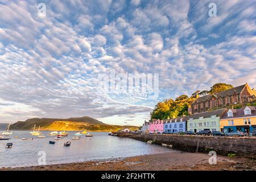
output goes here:
<path id="1" fill-rule="evenodd" d="M 164 121 L 164 131 L 168 133 L 187 131 L 188 117 L 179 117 L 174 119 L 166 119 Z"/>

